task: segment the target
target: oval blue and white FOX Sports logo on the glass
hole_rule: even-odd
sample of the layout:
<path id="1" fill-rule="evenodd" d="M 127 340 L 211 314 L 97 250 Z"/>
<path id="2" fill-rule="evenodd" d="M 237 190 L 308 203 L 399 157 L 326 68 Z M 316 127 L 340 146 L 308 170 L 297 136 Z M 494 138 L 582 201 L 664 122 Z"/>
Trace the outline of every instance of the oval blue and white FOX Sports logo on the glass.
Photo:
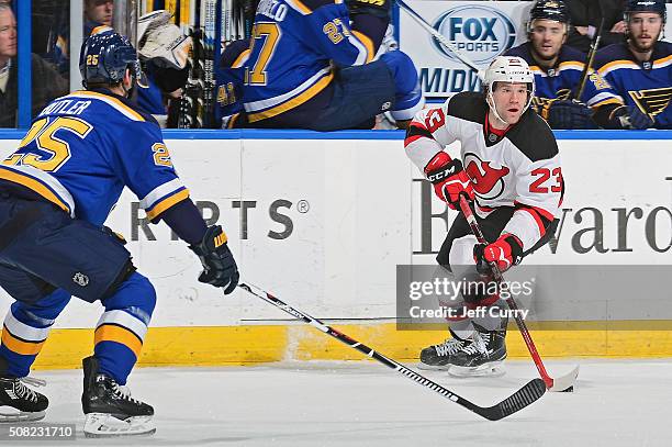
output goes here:
<path id="1" fill-rule="evenodd" d="M 490 7 L 469 4 L 451 8 L 439 15 L 434 29 L 478 65 L 489 64 L 516 41 L 516 27 L 511 18 Z M 459 62 L 444 45 L 434 38 L 432 42 L 444 56 Z"/>

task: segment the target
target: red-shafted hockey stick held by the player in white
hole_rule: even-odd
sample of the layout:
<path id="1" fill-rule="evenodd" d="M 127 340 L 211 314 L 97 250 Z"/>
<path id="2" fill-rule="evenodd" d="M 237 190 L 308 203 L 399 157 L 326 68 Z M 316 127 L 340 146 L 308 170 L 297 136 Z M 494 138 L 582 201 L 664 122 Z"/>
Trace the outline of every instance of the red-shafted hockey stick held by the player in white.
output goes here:
<path id="1" fill-rule="evenodd" d="M 479 222 L 473 215 L 473 212 L 469 206 L 469 202 L 467 201 L 467 199 L 464 199 L 463 194 L 460 194 L 460 209 L 462 211 L 462 214 L 464 214 L 464 219 L 467 219 L 467 223 L 469 223 L 471 232 L 477 237 L 479 244 L 486 245 L 488 241 L 485 241 L 485 237 L 483 237 L 481 226 L 479 225 Z M 495 262 L 492 262 L 490 267 L 492 268 L 495 281 L 504 281 L 504 278 L 502 277 L 502 271 L 500 271 L 497 265 Z M 574 391 L 574 383 L 576 382 L 576 377 L 579 376 L 579 366 L 576 366 L 565 376 L 556 379 L 551 378 L 548 372 L 546 372 L 546 368 L 544 367 L 544 362 L 541 361 L 541 356 L 539 356 L 539 353 L 537 351 L 537 347 L 535 346 L 535 342 L 529 335 L 529 331 L 527 329 L 525 321 L 520 317 L 519 312 L 517 312 L 518 305 L 516 304 L 516 301 L 513 299 L 513 297 L 509 297 L 506 299 L 506 304 L 508 304 L 508 308 L 514 311 L 514 319 L 516 321 L 516 324 L 518 325 L 518 329 L 520 329 L 520 335 L 523 335 L 525 345 L 527 345 L 527 349 L 529 350 L 529 354 L 531 355 L 531 358 L 535 361 L 535 366 L 537 367 L 541 379 L 544 379 L 544 383 L 546 383 L 546 388 L 548 388 L 549 391 Z"/>

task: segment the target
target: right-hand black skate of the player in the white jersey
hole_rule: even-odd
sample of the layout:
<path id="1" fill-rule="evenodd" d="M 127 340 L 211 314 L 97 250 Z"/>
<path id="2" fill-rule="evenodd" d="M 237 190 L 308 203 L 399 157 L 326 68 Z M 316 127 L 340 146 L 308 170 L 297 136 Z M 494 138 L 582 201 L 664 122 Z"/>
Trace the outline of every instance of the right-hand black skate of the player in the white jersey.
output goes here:
<path id="1" fill-rule="evenodd" d="M 501 376 L 506 358 L 506 329 L 486 331 L 474 324 L 473 339 L 450 357 L 449 373 L 458 377 Z"/>

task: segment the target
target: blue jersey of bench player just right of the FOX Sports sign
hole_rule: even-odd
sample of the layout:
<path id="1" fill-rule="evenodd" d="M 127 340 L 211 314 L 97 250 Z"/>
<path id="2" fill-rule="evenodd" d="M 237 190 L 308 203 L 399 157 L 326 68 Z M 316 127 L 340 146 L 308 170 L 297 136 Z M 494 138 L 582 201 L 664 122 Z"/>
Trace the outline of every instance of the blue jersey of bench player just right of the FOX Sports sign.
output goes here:
<path id="1" fill-rule="evenodd" d="M 542 114 L 542 111 L 547 110 L 552 101 L 573 99 L 581 83 L 586 56 L 578 49 L 563 45 L 558 55 L 556 66 L 545 70 L 539 67 L 533 57 L 530 46 L 530 43 L 526 42 L 523 45 L 511 48 L 506 52 L 506 55 L 524 58 L 535 74 L 535 99 L 533 107 L 538 113 Z M 623 99 L 608 82 L 595 72 L 591 72 L 587 77 L 585 88 L 579 100 L 593 109 L 606 104 L 623 105 Z"/>

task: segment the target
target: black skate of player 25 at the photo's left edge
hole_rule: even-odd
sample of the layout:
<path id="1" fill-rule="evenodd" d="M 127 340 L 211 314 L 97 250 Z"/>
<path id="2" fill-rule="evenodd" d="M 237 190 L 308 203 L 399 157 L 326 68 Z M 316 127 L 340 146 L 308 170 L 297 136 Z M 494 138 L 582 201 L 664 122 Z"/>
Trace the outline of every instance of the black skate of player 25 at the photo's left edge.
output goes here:
<path id="1" fill-rule="evenodd" d="M 25 422 L 44 418 L 49 400 L 24 383 L 44 387 L 46 382 L 30 378 L 0 376 L 0 422 Z"/>

